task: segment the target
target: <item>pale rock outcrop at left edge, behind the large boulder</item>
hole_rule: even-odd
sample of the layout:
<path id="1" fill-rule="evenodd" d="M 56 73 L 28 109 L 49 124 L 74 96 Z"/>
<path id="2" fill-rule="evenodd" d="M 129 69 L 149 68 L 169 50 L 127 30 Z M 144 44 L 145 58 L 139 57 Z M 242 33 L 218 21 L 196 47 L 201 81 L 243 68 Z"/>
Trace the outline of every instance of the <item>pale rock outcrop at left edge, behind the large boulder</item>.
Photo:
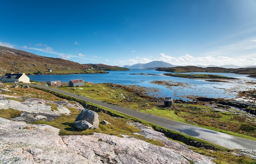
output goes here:
<path id="1" fill-rule="evenodd" d="M 12 100 L 10 98 L 20 99 L 21 101 Z M 57 108 L 52 108 L 56 106 Z M 0 94 L 0 110 L 1 109 L 16 109 L 22 111 L 19 117 L 13 118 L 18 121 L 27 123 L 36 120 L 54 120 L 62 114 L 69 115 L 70 110 L 67 107 L 83 110 L 83 106 L 79 103 L 69 103 L 68 101 L 48 101 L 39 98 L 22 98 L 19 96 L 9 96 Z"/>

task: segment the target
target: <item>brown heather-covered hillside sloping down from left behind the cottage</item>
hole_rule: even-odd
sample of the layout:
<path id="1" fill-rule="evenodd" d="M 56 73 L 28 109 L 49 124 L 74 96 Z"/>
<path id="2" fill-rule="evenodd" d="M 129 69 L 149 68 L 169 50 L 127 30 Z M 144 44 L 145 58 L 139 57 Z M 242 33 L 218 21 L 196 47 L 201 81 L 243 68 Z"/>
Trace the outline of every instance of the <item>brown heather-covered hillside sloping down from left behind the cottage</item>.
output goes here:
<path id="1" fill-rule="evenodd" d="M 52 72 L 48 72 L 49 69 Z M 43 57 L 22 50 L 0 46 L 0 76 L 10 72 L 36 74 L 38 71 L 41 74 L 104 73 L 104 70 L 110 69 L 124 70 L 124 68 L 117 66 L 80 64 L 65 59 Z"/>

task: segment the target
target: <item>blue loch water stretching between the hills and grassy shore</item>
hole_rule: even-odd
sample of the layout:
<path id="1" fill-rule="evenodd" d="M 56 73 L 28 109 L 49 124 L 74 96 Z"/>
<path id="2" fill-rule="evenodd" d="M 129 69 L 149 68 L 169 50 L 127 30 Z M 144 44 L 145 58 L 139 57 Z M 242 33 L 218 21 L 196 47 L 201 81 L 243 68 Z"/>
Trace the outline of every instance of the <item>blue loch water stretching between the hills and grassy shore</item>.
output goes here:
<path id="1" fill-rule="evenodd" d="M 34 81 L 57 81 L 63 83 L 71 79 L 83 79 L 92 83 L 115 83 L 122 85 L 139 85 L 142 87 L 157 88 L 157 92 L 148 93 L 155 97 L 173 96 L 174 99 L 190 100 L 187 96 L 203 96 L 212 98 L 236 98 L 238 91 L 255 89 L 256 79 L 247 75 L 229 73 L 209 73 L 219 74 L 226 77 L 234 77 L 237 80 L 225 80 L 227 82 L 211 82 L 202 79 L 185 79 L 179 77 L 164 76 L 164 73 L 156 70 L 134 69 L 128 71 L 109 71 L 108 74 L 67 74 L 67 75 L 28 75 Z M 192 72 L 194 74 L 206 74 L 206 72 Z M 158 76 L 156 76 L 158 75 Z M 170 81 L 173 83 L 183 83 L 167 87 L 151 83 L 151 81 Z M 246 83 L 252 82 L 252 83 Z"/>

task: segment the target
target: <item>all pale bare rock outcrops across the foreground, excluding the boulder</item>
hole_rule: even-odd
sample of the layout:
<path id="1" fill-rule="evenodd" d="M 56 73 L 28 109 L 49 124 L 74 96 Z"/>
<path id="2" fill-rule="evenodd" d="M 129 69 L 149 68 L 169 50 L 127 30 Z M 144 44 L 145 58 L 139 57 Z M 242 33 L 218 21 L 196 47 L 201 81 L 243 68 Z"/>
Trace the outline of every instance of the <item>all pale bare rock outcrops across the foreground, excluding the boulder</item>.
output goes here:
<path id="1" fill-rule="evenodd" d="M 13 108 L 23 113 L 13 120 L 0 118 L 0 163 L 213 163 L 212 158 L 195 153 L 186 145 L 168 140 L 163 133 L 139 123 L 128 122 L 140 129 L 141 133 L 137 135 L 159 140 L 165 146 L 156 146 L 130 136 L 120 138 L 103 133 L 59 136 L 60 129 L 26 122 L 51 120 L 60 114 L 69 114 L 65 106 L 82 110 L 81 105 L 36 98 L 25 98 L 25 101 L 19 102 L 7 99 L 10 97 L 14 96 L 1 94 L 0 109 Z M 51 103 L 57 104 L 58 109 L 52 110 Z"/>

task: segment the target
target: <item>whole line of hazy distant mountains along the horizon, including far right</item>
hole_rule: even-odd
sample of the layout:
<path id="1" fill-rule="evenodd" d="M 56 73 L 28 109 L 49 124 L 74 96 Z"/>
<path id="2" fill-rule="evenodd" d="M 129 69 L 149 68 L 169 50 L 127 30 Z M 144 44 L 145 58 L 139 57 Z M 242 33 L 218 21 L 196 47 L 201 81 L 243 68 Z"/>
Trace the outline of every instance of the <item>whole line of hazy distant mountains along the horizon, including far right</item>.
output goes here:
<path id="1" fill-rule="evenodd" d="M 175 65 L 172 65 L 170 63 L 166 63 L 164 61 L 152 61 L 149 63 L 138 63 L 134 64 L 132 66 L 124 66 L 124 68 L 129 68 L 129 69 L 145 69 L 145 68 L 172 68 L 172 67 L 177 67 Z M 256 68 L 256 66 L 235 66 L 235 65 L 223 65 L 223 66 L 215 66 L 215 65 L 208 65 L 208 66 L 202 66 L 198 65 L 197 67 L 202 67 L 202 68 L 207 68 L 207 67 L 220 67 L 220 68 Z"/>

